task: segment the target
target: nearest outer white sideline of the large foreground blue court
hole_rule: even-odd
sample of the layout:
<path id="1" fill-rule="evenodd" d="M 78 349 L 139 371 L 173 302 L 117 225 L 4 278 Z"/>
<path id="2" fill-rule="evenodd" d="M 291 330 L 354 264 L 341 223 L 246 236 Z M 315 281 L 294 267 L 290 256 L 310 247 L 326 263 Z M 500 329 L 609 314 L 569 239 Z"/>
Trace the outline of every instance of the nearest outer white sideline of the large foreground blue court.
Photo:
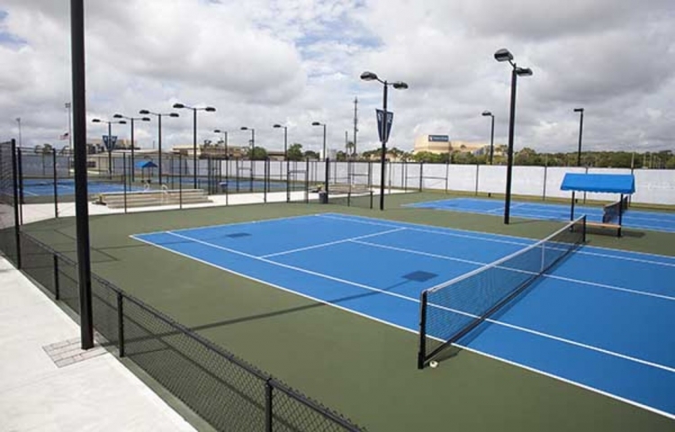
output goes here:
<path id="1" fill-rule="evenodd" d="M 200 263 L 202 263 L 202 264 L 204 264 L 204 265 L 206 265 L 206 266 L 212 266 L 212 267 L 218 268 L 218 269 L 220 269 L 220 270 L 229 272 L 229 273 L 231 273 L 231 274 L 233 274 L 233 275 L 241 276 L 241 277 L 243 277 L 243 278 L 245 278 L 245 279 L 249 279 L 249 280 L 252 280 L 252 281 L 261 283 L 261 284 L 266 284 L 266 285 L 269 285 L 269 286 L 273 286 L 273 287 L 278 288 L 278 289 L 280 289 L 280 290 L 282 290 L 282 291 L 285 291 L 285 292 L 287 292 L 287 293 L 293 293 L 293 294 L 295 294 L 295 295 L 299 295 L 299 296 L 301 296 L 301 297 L 310 299 L 310 300 L 312 300 L 312 301 L 320 302 L 320 303 L 326 304 L 326 305 L 328 305 L 328 306 L 330 306 L 330 307 L 333 307 L 333 308 L 336 308 L 336 309 L 338 309 L 338 310 L 340 310 L 340 311 L 347 311 L 347 312 L 349 312 L 349 313 L 353 313 L 353 314 L 355 314 L 355 315 L 357 315 L 357 316 L 360 316 L 360 317 L 363 317 L 363 318 L 365 318 L 365 319 L 367 319 L 367 320 L 373 320 L 373 321 L 375 321 L 375 322 L 379 322 L 379 323 L 384 324 L 384 325 L 386 325 L 386 326 L 390 326 L 390 327 L 392 327 L 392 328 L 394 328 L 394 329 L 400 329 L 400 330 L 403 330 L 403 331 L 410 332 L 410 333 L 412 333 L 412 334 L 414 334 L 414 335 L 419 335 L 419 332 L 416 331 L 416 330 L 408 329 L 408 328 L 402 327 L 402 326 L 400 326 L 400 325 L 394 324 L 394 323 L 392 323 L 392 322 L 389 322 L 389 321 L 386 321 L 386 320 L 381 320 L 381 319 L 375 318 L 375 317 L 373 317 L 373 316 L 371 316 L 371 315 L 368 315 L 368 314 L 365 314 L 365 313 L 363 313 L 363 312 L 359 312 L 359 311 L 354 311 L 354 310 L 348 309 L 348 308 L 346 308 L 346 307 L 344 307 L 344 306 L 340 306 L 340 305 L 338 305 L 338 304 L 336 304 L 336 303 L 334 303 L 334 302 L 325 301 L 325 300 L 322 300 L 322 299 L 313 297 L 313 296 L 308 295 L 308 294 L 305 294 L 305 293 L 298 293 L 297 291 L 295 291 L 295 290 L 293 290 L 293 289 L 286 288 L 286 287 L 281 286 L 281 285 L 278 285 L 278 284 L 270 284 L 269 282 L 266 282 L 266 281 L 264 281 L 264 280 L 262 280 L 262 279 L 257 279 L 257 278 L 254 278 L 254 277 L 250 276 L 250 275 L 245 275 L 245 274 L 241 274 L 241 273 L 235 272 L 234 270 L 231 270 L 231 269 L 229 269 L 229 268 L 227 268 L 227 267 L 218 266 L 217 264 L 214 264 L 214 263 L 211 263 L 211 262 L 202 260 L 201 258 L 193 257 L 193 256 L 191 256 L 191 255 L 184 254 L 183 252 L 178 252 L 178 251 L 176 251 L 176 250 L 174 250 L 174 249 L 171 249 L 171 248 L 168 248 L 168 247 L 164 247 L 164 246 L 161 246 L 161 245 L 159 245 L 159 244 L 156 244 L 156 243 L 153 243 L 153 242 L 150 242 L 150 241 L 147 241 L 147 240 L 143 240 L 143 239 L 141 239 L 141 238 L 136 238 L 136 237 L 134 237 L 134 236 L 130 236 L 130 237 L 131 237 L 131 238 L 135 238 L 135 239 L 139 240 L 140 242 L 146 243 L 146 244 L 148 244 L 148 245 L 150 245 L 150 246 L 158 247 L 158 248 L 160 248 L 160 249 L 166 250 L 167 252 L 174 253 L 174 254 L 176 254 L 176 255 L 178 255 L 178 256 L 185 257 L 185 258 L 189 258 L 189 259 L 193 259 L 193 260 L 195 260 L 195 261 L 197 261 L 197 262 L 200 262 Z M 376 290 L 376 289 L 374 289 L 374 290 Z M 387 294 L 391 294 L 391 293 L 387 293 Z M 415 301 L 417 301 L 417 299 L 415 299 Z M 417 301 L 417 302 L 419 302 L 419 301 Z M 498 321 L 496 321 L 496 323 L 499 324 Z M 440 339 L 438 339 L 438 340 L 440 340 Z M 657 410 L 657 409 L 655 409 L 655 408 L 653 408 L 653 407 L 644 405 L 644 404 L 639 403 L 639 402 L 631 401 L 631 400 L 629 400 L 629 399 L 623 398 L 623 397 L 618 396 L 618 395 L 616 395 L 616 394 L 613 394 L 613 393 L 610 393 L 610 392 L 604 392 L 604 391 L 601 391 L 601 390 L 599 390 L 599 389 L 596 389 L 595 387 L 590 387 L 590 386 L 588 386 L 588 385 L 586 385 L 586 384 L 577 383 L 577 382 L 575 382 L 575 381 L 568 380 L 567 378 L 563 378 L 562 376 L 555 375 L 555 374 L 551 374 L 551 373 L 542 371 L 542 370 L 540 370 L 540 369 L 536 369 L 536 368 L 531 367 L 531 366 L 522 365 L 522 364 L 519 364 L 519 363 L 514 362 L 514 361 L 512 361 L 512 360 L 508 360 L 508 359 L 502 358 L 502 357 L 500 357 L 500 356 L 494 356 L 494 355 L 488 354 L 488 353 L 483 352 L 483 351 L 478 350 L 478 349 L 474 349 L 474 348 L 462 346 L 462 345 L 459 345 L 459 344 L 456 344 L 456 343 L 453 344 L 453 345 L 455 345 L 456 347 L 460 347 L 460 348 L 462 348 L 462 349 L 465 349 L 465 350 L 467 350 L 467 351 L 473 352 L 473 353 L 475 353 L 475 354 L 478 354 L 478 355 L 481 355 L 481 356 L 486 356 L 486 357 L 489 357 L 489 358 L 491 358 L 491 359 L 494 359 L 494 360 L 503 362 L 503 363 L 508 364 L 508 365 L 515 365 L 515 366 L 521 367 L 521 368 L 523 368 L 523 369 L 525 369 L 525 370 L 532 371 L 532 372 L 535 372 L 535 373 L 537 373 L 537 374 L 542 374 L 542 375 L 548 376 L 548 377 L 550 377 L 550 378 L 554 378 L 555 380 L 558 380 L 558 381 L 560 381 L 560 382 L 562 382 L 562 383 L 570 383 L 570 384 L 576 385 L 577 387 L 580 387 L 580 388 L 582 388 L 582 389 L 589 390 L 590 392 L 596 392 L 596 393 L 598 393 L 598 394 L 601 394 L 601 395 L 603 395 L 603 396 L 607 396 L 607 397 L 612 398 L 612 399 L 615 399 L 615 400 L 617 400 L 617 401 L 623 401 L 623 402 L 626 402 L 626 403 L 629 404 L 629 405 L 633 405 L 633 406 L 635 406 L 635 407 L 642 408 L 642 409 L 644 409 L 644 410 L 652 411 L 652 412 L 654 412 L 654 413 L 660 414 L 660 415 L 662 415 L 662 416 L 664 416 L 664 417 L 667 417 L 667 418 L 670 418 L 670 419 L 675 419 L 675 415 L 674 415 L 674 414 L 671 414 L 671 413 L 668 413 L 668 412 L 665 412 L 665 411 L 662 411 L 662 410 Z"/>

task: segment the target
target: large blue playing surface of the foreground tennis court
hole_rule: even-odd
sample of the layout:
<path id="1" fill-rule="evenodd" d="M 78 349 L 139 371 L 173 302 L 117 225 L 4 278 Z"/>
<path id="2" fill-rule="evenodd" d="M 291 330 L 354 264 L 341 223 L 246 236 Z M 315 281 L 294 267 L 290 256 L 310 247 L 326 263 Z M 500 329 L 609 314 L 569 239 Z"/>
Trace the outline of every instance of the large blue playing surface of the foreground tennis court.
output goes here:
<path id="1" fill-rule="evenodd" d="M 535 243 L 338 213 L 132 237 L 415 333 L 423 290 Z M 582 246 L 456 346 L 675 419 L 673 280 L 675 257 Z"/>

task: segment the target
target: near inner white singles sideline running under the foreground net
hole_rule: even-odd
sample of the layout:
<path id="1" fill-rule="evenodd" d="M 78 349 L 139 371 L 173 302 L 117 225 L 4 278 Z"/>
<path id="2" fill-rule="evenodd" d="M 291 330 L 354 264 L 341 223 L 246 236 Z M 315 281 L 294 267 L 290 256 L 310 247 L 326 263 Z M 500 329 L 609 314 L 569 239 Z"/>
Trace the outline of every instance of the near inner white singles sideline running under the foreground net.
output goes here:
<path id="1" fill-rule="evenodd" d="M 399 293 L 392 293 L 392 292 L 382 290 L 380 288 L 375 288 L 373 286 L 369 286 L 369 285 L 366 285 L 366 284 L 359 284 L 359 283 L 356 283 L 356 282 L 347 281 L 346 279 L 341 279 L 339 277 L 324 275 L 322 273 L 307 270 L 307 269 L 304 269 L 302 267 L 289 266 L 287 264 L 277 263 L 275 261 L 272 261 L 272 260 L 269 260 L 269 259 L 266 259 L 266 258 L 263 258 L 263 257 L 256 257 L 256 256 L 253 256 L 253 255 L 247 254 L 246 252 L 239 252 L 238 250 L 230 249 L 229 247 L 222 247 L 220 245 L 214 245 L 212 243 L 209 243 L 208 241 L 202 241 L 202 240 L 197 239 L 197 238 L 190 238 L 190 237 L 187 237 L 187 236 L 183 236 L 181 234 L 175 234 L 175 233 L 170 232 L 170 231 L 167 231 L 167 234 L 170 234 L 170 235 L 178 237 L 178 238 L 184 238 L 186 240 L 193 241 L 194 243 L 198 243 L 198 244 L 201 244 L 201 245 L 204 245 L 204 246 L 207 246 L 207 247 L 213 247 L 213 248 L 216 248 L 216 249 L 224 250 L 226 252 L 236 254 L 236 255 L 239 255 L 239 256 L 242 256 L 242 257 L 248 257 L 248 258 L 255 259 L 257 261 L 262 261 L 266 264 L 271 264 L 273 266 L 280 266 L 280 267 L 288 268 L 288 269 L 291 269 L 291 270 L 295 270 L 297 272 L 306 273 L 308 275 L 318 276 L 318 277 L 321 277 L 321 278 L 324 278 L 324 279 L 329 279 L 329 280 L 334 281 L 334 282 L 339 282 L 341 284 L 348 284 L 348 285 L 356 286 L 358 288 L 363 288 L 365 290 L 372 291 L 374 293 L 382 293 L 382 294 L 385 294 L 385 295 L 390 295 L 392 297 L 399 298 L 401 300 L 406 300 L 408 302 L 419 303 L 419 299 L 417 299 L 415 297 L 410 297 L 408 295 L 399 294 Z M 473 315 L 472 313 L 468 313 L 468 312 L 464 312 L 464 311 L 457 311 L 457 310 L 454 310 L 454 309 L 451 309 L 451 308 L 446 308 L 445 306 L 440 306 L 440 305 L 437 305 L 437 304 L 434 304 L 434 303 L 429 303 L 429 304 L 431 306 L 437 307 L 438 309 L 451 311 L 451 312 L 454 312 L 454 313 L 457 313 L 457 314 L 460 314 L 460 315 L 471 317 L 473 319 L 480 319 L 481 318 L 477 315 Z M 559 338 L 557 336 L 549 335 L 549 334 L 546 334 L 546 333 L 543 333 L 543 332 L 540 332 L 540 331 L 537 331 L 537 330 L 527 329 L 525 327 L 520 327 L 520 326 L 516 326 L 516 325 L 513 325 L 513 324 L 508 324 L 506 322 L 502 322 L 502 321 L 498 321 L 498 320 L 486 319 L 485 321 L 490 322 L 491 324 L 497 324 L 497 325 L 500 325 L 500 326 L 503 326 L 503 327 L 507 327 L 509 329 L 518 329 L 520 331 L 524 331 L 524 332 L 527 332 L 527 333 L 530 333 L 530 334 L 533 334 L 533 335 L 536 335 L 536 336 L 539 336 L 539 337 L 542 337 L 542 338 L 550 338 L 550 339 L 553 339 L 553 340 L 558 341 L 558 342 L 563 342 L 563 343 L 573 345 L 573 346 L 576 346 L 576 347 L 584 347 L 584 348 L 590 349 L 592 351 L 597 351 L 597 352 L 602 353 L 602 354 L 607 354 L 608 356 L 616 356 L 618 358 L 630 360 L 630 361 L 633 361 L 635 363 L 639 363 L 639 364 L 642 364 L 642 365 L 648 365 L 648 366 L 659 368 L 659 369 L 662 369 L 662 370 L 665 370 L 665 371 L 668 371 L 668 372 L 671 372 L 671 373 L 675 373 L 674 368 L 671 368 L 671 367 L 665 366 L 665 365 L 659 365 L 657 363 L 649 362 L 647 360 L 643 360 L 643 359 L 640 359 L 640 358 L 637 358 L 637 357 L 626 356 L 624 354 L 615 353 L 614 351 L 609 351 L 609 350 L 604 349 L 604 348 L 593 347 L 591 345 L 582 344 L 581 342 L 576 342 L 576 341 L 573 341 L 571 339 Z"/>

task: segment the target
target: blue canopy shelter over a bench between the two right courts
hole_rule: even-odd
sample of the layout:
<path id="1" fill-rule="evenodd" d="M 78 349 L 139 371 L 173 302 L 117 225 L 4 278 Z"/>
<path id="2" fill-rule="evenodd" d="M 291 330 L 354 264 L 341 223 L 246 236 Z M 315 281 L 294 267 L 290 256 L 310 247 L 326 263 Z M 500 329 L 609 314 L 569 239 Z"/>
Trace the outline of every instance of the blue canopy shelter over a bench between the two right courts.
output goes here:
<path id="1" fill-rule="evenodd" d="M 567 173 L 560 186 L 563 191 L 572 191 L 572 209 L 570 218 L 574 219 L 574 194 L 577 192 L 619 193 L 617 202 L 603 208 L 601 223 L 587 222 L 587 225 L 598 225 L 604 228 L 617 229 L 617 236 L 621 237 L 621 222 L 623 213 L 628 208 L 628 197 L 635 193 L 635 176 L 632 174 L 577 174 Z M 617 221 L 617 223 L 616 223 Z"/>

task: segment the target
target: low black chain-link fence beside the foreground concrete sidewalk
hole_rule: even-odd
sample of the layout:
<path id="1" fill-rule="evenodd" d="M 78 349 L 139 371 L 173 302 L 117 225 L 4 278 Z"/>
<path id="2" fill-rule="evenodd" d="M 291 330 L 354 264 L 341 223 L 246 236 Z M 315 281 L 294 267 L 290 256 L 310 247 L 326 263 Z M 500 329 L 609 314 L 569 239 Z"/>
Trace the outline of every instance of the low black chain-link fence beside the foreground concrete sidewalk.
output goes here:
<path id="1" fill-rule="evenodd" d="M 76 261 L 23 231 L 16 250 L 13 264 L 78 314 Z M 98 342 L 117 347 L 118 356 L 129 358 L 213 428 L 365 430 L 94 274 L 92 295 Z"/>

